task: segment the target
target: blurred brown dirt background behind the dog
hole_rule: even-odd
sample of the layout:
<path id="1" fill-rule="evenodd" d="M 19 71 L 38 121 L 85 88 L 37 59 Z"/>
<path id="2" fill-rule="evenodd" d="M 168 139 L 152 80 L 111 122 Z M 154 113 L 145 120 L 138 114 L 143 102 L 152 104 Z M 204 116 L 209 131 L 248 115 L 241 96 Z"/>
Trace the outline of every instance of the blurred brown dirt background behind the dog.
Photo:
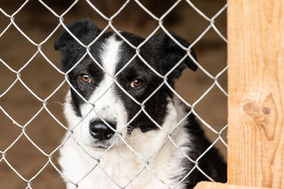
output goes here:
<path id="1" fill-rule="evenodd" d="M 124 1 L 92 1 L 106 16 L 113 15 Z M 53 10 L 61 14 L 72 1 L 46 1 L 46 4 Z M 172 6 L 175 1 L 141 1 L 156 16 L 161 16 Z M 223 0 L 192 0 L 197 8 L 200 8 L 209 18 L 219 11 L 226 1 Z M 0 7 L 8 14 L 14 13 L 23 1 L 2 0 Z M 85 2 L 79 1 L 70 12 L 64 16 L 65 24 L 77 21 L 80 18 L 91 18 L 99 27 L 104 28 L 107 25 L 99 14 Z M 10 19 L 0 13 L 0 33 L 9 24 Z M 45 40 L 58 25 L 59 21 L 53 13 L 48 11 L 38 1 L 29 1 L 15 16 L 15 22 L 23 33 L 29 36 L 33 41 L 39 43 Z M 126 30 L 147 37 L 157 26 L 158 23 L 148 16 L 145 11 L 131 1 L 119 16 L 114 18 L 114 26 L 118 30 Z M 226 36 L 226 11 L 222 13 L 215 21 L 217 28 Z M 202 18 L 186 1 L 182 1 L 164 20 L 165 28 L 178 33 L 188 42 L 193 42 L 209 25 L 209 22 Z M 48 59 L 56 67 L 60 68 L 60 52 L 53 49 L 53 42 L 62 31 L 59 28 L 49 40 L 42 45 L 42 50 Z M 50 96 L 51 93 L 63 81 L 63 76 L 56 71 L 48 62 L 37 52 L 37 47 L 31 44 L 26 38 L 18 32 L 12 25 L 6 33 L 0 38 L 0 58 L 9 64 L 12 69 L 18 70 L 28 62 L 28 65 L 21 71 L 21 79 L 31 90 L 42 99 Z M 210 74 L 216 76 L 224 67 L 226 67 L 226 43 L 219 38 L 213 29 L 210 29 L 204 37 L 194 46 L 199 63 L 207 69 Z M 35 55 L 34 59 L 29 59 Z M 11 116 L 18 124 L 28 125 L 25 133 L 27 136 L 42 149 L 46 154 L 50 154 L 60 145 L 60 141 L 65 130 L 57 123 L 46 110 L 42 110 L 31 122 L 31 118 L 38 113 L 43 103 L 38 101 L 31 93 L 17 81 L 16 84 L 4 95 L 9 86 L 15 81 L 16 74 L 7 69 L 0 62 L 0 105 L 6 113 Z M 226 72 L 219 78 L 219 84 L 226 90 Z M 197 101 L 207 88 L 214 83 L 212 79 L 204 74 L 200 69 L 196 72 L 186 69 L 176 84 L 176 91 L 189 103 Z M 67 92 L 67 84 L 62 86 L 50 99 L 48 99 L 48 109 L 64 125 L 65 119 L 62 115 L 62 102 Z M 215 130 L 219 131 L 226 125 L 226 96 L 214 86 L 207 96 L 196 105 L 197 113 Z M 204 125 L 202 125 L 204 127 Z M 217 139 L 207 127 L 204 127 L 207 136 L 213 142 Z M 21 135 L 22 129 L 18 127 L 0 110 L 0 152 L 6 151 L 5 159 L 0 156 L 0 188 L 26 188 L 27 183 L 24 179 L 30 180 L 32 188 L 64 188 L 64 183 L 60 174 L 55 171 L 51 164 L 48 164 L 38 175 L 38 171 L 48 163 L 48 157 L 41 153 L 31 144 L 25 135 Z M 20 137 L 19 137 L 20 136 Z M 226 140 L 226 130 L 222 134 Z M 13 142 L 19 137 L 16 143 Z M 13 145 L 11 145 L 13 144 Z M 226 157 L 226 147 L 222 142 L 217 142 L 217 147 Z M 7 150 L 8 149 L 8 150 Z M 57 164 L 58 153 L 53 154 L 53 163 Z M 9 166 L 10 164 L 20 178 Z M 59 166 L 58 166 L 59 167 Z M 36 175 L 36 176 L 35 176 Z M 33 179 L 33 176 L 35 178 Z"/>

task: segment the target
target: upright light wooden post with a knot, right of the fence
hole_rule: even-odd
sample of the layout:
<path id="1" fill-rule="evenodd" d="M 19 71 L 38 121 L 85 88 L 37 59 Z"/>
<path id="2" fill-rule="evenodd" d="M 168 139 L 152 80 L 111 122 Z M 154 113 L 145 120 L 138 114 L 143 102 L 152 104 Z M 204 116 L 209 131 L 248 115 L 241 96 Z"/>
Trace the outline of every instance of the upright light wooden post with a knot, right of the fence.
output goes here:
<path id="1" fill-rule="evenodd" d="M 284 1 L 228 0 L 228 182 L 284 188 Z"/>

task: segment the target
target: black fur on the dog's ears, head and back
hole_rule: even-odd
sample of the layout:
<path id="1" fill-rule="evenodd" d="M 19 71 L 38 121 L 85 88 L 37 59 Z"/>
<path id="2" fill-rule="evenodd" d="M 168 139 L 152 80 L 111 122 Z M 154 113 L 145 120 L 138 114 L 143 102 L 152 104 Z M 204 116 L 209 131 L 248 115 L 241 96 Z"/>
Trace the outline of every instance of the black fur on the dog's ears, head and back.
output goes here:
<path id="1" fill-rule="evenodd" d="M 71 24 L 69 30 L 82 42 L 84 45 L 89 45 L 92 40 L 97 38 L 100 30 L 94 23 L 89 20 L 81 20 L 76 23 Z M 180 42 L 184 47 L 189 47 L 190 44 L 181 38 L 179 35 L 170 33 L 173 37 Z M 104 33 L 94 44 L 91 46 L 91 53 L 94 59 L 97 60 L 99 64 L 102 64 L 99 59 L 99 52 L 102 50 L 102 42 L 104 42 L 111 35 L 116 36 L 116 40 L 122 40 L 119 35 L 115 33 Z M 143 42 L 143 38 L 133 35 L 131 33 L 121 32 L 121 35 L 124 36 L 131 44 L 138 46 Z M 64 31 L 55 42 L 55 49 L 62 52 L 62 70 L 67 72 L 76 62 L 84 55 L 86 49 L 82 47 L 72 36 Z M 160 74 L 165 75 L 172 69 L 175 64 L 177 64 L 182 57 L 185 56 L 187 52 L 182 50 L 172 39 L 168 37 L 165 33 L 160 33 L 153 36 L 145 45 L 141 47 L 140 54 L 143 59 L 148 62 L 148 64 L 153 67 Z M 191 50 L 192 57 L 195 57 L 195 52 Z M 119 62 L 118 67 L 116 67 L 116 72 L 119 71 L 124 65 L 129 62 L 131 57 L 136 54 L 136 50 L 133 50 L 132 47 L 127 45 L 126 42 L 123 42 L 121 47 L 121 52 L 119 52 Z M 168 82 L 170 86 L 174 87 L 174 79 L 178 78 L 185 65 L 195 71 L 197 65 L 187 57 L 182 64 L 180 64 L 169 76 Z M 78 78 L 80 74 L 89 74 L 92 76 L 91 84 L 85 84 L 80 81 Z M 85 57 L 80 64 L 75 67 L 69 73 L 70 82 L 76 88 L 76 90 L 88 99 L 92 91 L 99 85 L 104 77 L 103 71 L 95 64 L 92 59 L 87 56 Z M 140 88 L 131 88 L 129 87 L 133 79 L 141 79 L 143 85 Z M 148 98 L 153 91 L 155 91 L 158 86 L 163 82 L 163 79 L 157 76 L 151 69 L 149 69 L 138 57 L 133 59 L 131 64 L 129 64 L 124 71 L 116 77 L 116 80 L 121 84 L 124 89 L 133 96 L 137 101 L 142 103 Z M 75 111 L 77 115 L 80 116 L 80 105 L 84 103 L 80 96 L 72 91 L 72 101 L 75 106 Z M 118 86 L 116 86 L 116 95 L 122 99 L 124 106 L 128 112 L 129 120 L 141 110 L 141 105 L 137 105 L 131 98 L 126 96 L 124 91 L 122 91 Z M 146 103 L 145 109 L 148 115 L 151 116 L 159 125 L 163 124 L 165 115 L 166 115 L 166 105 L 168 104 L 168 98 L 173 98 L 173 93 L 170 89 L 163 85 L 160 90 L 158 90 L 155 95 L 153 95 Z M 186 110 L 185 110 L 186 111 Z M 188 110 L 187 110 L 188 111 Z M 187 130 L 192 139 L 189 139 L 190 147 L 194 149 L 190 154 L 187 154 L 192 159 L 197 159 L 204 150 L 209 147 L 209 141 L 204 137 L 200 125 L 195 121 L 194 115 L 190 115 L 188 118 L 189 124 L 187 125 Z M 130 128 L 130 127 L 129 127 Z M 148 132 L 149 130 L 158 130 L 159 128 L 153 124 L 153 122 L 148 119 L 146 114 L 143 112 L 138 115 L 138 117 L 131 122 L 132 128 L 140 129 L 142 132 Z M 129 130 L 129 134 L 131 134 Z M 189 172 L 195 164 L 186 158 L 182 162 L 177 162 L 177 164 L 183 164 L 187 167 Z M 217 149 L 210 149 L 210 151 L 200 159 L 198 166 L 208 174 L 214 181 L 226 182 L 226 164 L 222 160 L 222 157 L 219 155 Z M 182 179 L 185 175 L 176 176 L 178 179 Z M 198 181 L 206 181 L 207 178 L 195 168 L 190 176 L 185 179 L 187 183 L 187 188 L 193 188 Z"/>

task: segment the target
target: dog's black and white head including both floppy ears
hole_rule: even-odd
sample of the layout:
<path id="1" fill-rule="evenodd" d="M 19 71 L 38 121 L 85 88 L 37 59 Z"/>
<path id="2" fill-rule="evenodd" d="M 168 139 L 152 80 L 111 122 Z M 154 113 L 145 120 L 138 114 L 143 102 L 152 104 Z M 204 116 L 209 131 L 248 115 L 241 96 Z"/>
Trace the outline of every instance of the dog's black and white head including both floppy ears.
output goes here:
<path id="1" fill-rule="evenodd" d="M 166 80 L 173 87 L 173 79 L 180 76 L 185 64 L 192 70 L 197 69 L 190 57 L 186 57 L 167 79 L 163 78 L 186 55 L 186 51 L 168 35 L 160 33 L 140 47 L 141 60 L 136 50 L 119 35 L 100 35 L 102 30 L 89 20 L 78 21 L 68 28 L 84 45 L 89 45 L 99 35 L 89 48 L 92 57 L 83 57 L 86 48 L 67 31 L 62 32 L 55 42 L 55 49 L 62 52 L 62 71 L 72 69 L 68 74 L 73 86 L 69 103 L 74 116 L 81 120 L 84 144 L 107 149 L 120 135 L 124 139 L 131 136 L 133 130 L 158 130 L 156 124 L 163 125 L 168 114 L 167 104 L 173 98 L 172 91 L 163 82 Z M 131 33 L 120 34 L 136 47 L 144 41 Z M 190 45 L 180 36 L 171 34 L 181 45 Z M 193 51 L 191 55 L 195 57 Z"/>

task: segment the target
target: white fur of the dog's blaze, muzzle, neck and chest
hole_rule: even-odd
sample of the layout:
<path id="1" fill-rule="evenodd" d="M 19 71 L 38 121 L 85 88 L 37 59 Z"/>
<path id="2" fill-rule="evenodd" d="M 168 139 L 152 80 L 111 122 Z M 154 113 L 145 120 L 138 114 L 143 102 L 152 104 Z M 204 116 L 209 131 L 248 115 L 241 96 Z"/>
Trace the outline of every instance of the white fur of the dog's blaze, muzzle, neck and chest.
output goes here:
<path id="1" fill-rule="evenodd" d="M 114 68 L 116 67 L 119 42 L 114 38 L 110 38 L 106 42 L 104 51 L 102 52 L 102 64 L 103 67 L 109 72 L 114 74 Z M 99 96 L 113 84 L 111 76 L 105 76 L 101 84 L 92 94 L 90 101 L 97 101 Z M 103 154 L 102 151 L 96 151 L 92 148 L 92 137 L 89 136 L 89 122 L 93 119 L 97 119 L 98 115 L 92 111 L 89 115 L 90 105 L 83 105 L 81 108 L 82 117 L 87 115 L 79 125 L 77 125 L 81 118 L 77 117 L 71 104 L 70 92 L 67 93 L 65 101 L 65 117 L 70 125 L 71 129 L 74 129 L 72 138 L 60 148 L 59 163 L 62 167 L 62 173 L 73 183 L 78 183 L 79 189 L 94 189 L 94 188 L 119 188 L 113 181 L 115 181 L 121 187 L 127 185 L 140 171 L 146 166 L 146 162 L 136 156 L 129 147 L 123 142 L 119 145 L 107 151 L 104 156 L 99 160 L 99 166 L 96 166 L 97 161 L 92 159 L 88 154 L 98 158 Z M 121 101 L 114 96 L 113 88 L 109 88 L 107 93 L 95 103 L 95 112 L 99 113 L 99 116 L 104 119 L 115 119 L 118 122 L 117 130 L 120 130 L 126 125 L 126 110 Z M 170 131 L 178 122 L 185 116 L 184 107 L 177 98 L 168 99 L 167 105 L 168 113 L 165 117 L 164 124 L 162 125 L 165 131 Z M 175 144 L 180 147 L 180 150 L 185 154 L 188 154 L 190 147 L 188 147 L 189 134 L 185 130 L 185 120 L 182 124 L 171 133 L 171 137 Z M 77 125 L 77 126 L 76 126 Z M 116 134 L 117 135 L 117 134 Z M 112 138 L 116 139 L 118 136 Z M 65 139 L 69 136 L 66 134 Z M 149 159 L 155 151 L 168 139 L 168 134 L 165 134 L 161 130 L 153 130 L 149 132 L 141 132 L 136 129 L 131 133 L 131 137 L 126 137 L 123 134 L 127 144 L 131 146 L 143 159 Z M 87 151 L 86 154 L 80 147 Z M 148 161 L 148 166 L 158 176 L 156 178 L 153 173 L 145 168 L 127 188 L 168 188 L 174 187 L 178 184 L 178 178 L 174 176 L 182 175 L 185 172 L 185 168 L 180 165 L 180 161 L 184 158 L 182 153 L 176 149 L 172 142 L 168 141 L 160 148 L 160 150 Z M 92 170 L 94 168 L 94 170 Z M 106 173 L 104 173 L 104 170 Z M 91 172 L 90 172 L 91 171 Z M 67 182 L 67 188 L 75 188 L 72 183 Z M 166 184 L 167 185 L 166 185 Z M 182 188 L 183 184 L 180 184 L 178 188 Z"/>

